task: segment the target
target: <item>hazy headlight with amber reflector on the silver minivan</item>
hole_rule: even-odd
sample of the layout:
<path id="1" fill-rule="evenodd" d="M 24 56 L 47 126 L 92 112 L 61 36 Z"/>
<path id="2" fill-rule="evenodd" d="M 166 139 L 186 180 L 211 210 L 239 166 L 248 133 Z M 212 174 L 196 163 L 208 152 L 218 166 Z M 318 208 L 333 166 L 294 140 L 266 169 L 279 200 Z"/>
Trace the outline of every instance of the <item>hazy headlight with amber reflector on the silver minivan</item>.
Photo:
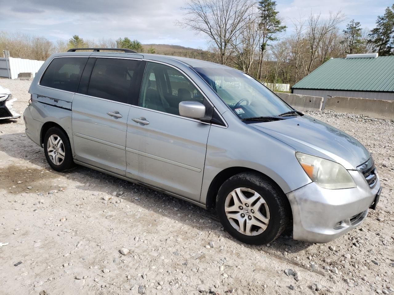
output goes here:
<path id="1" fill-rule="evenodd" d="M 299 152 L 296 158 L 309 178 L 322 188 L 336 190 L 356 187 L 348 170 L 337 162 Z"/>

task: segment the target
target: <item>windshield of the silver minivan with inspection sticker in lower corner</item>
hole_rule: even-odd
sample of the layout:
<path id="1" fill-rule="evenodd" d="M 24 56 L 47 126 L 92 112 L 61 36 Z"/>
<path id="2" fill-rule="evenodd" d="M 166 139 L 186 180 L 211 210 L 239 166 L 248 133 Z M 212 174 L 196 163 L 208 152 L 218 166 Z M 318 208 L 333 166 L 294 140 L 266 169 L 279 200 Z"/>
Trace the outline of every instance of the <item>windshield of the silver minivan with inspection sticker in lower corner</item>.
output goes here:
<path id="1" fill-rule="evenodd" d="M 264 85 L 241 71 L 194 69 L 240 119 L 279 116 L 294 111 Z"/>

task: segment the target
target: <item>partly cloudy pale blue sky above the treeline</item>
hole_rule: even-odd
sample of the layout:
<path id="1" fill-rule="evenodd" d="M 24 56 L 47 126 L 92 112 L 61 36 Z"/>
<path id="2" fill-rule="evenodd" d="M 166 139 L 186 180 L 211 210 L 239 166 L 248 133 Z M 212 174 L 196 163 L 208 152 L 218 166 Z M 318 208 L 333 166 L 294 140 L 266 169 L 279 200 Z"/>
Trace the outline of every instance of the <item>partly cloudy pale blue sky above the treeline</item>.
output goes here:
<path id="1" fill-rule="evenodd" d="M 67 41 L 72 35 L 85 39 L 129 37 L 143 44 L 207 47 L 204 35 L 177 26 L 185 13 L 185 0 L 0 0 L 0 31 L 43 36 Z M 292 31 L 294 18 L 310 13 L 328 15 L 341 10 L 347 21 L 355 19 L 372 29 L 378 15 L 393 0 L 277 0 L 279 17 Z M 346 27 L 345 21 L 342 28 Z"/>

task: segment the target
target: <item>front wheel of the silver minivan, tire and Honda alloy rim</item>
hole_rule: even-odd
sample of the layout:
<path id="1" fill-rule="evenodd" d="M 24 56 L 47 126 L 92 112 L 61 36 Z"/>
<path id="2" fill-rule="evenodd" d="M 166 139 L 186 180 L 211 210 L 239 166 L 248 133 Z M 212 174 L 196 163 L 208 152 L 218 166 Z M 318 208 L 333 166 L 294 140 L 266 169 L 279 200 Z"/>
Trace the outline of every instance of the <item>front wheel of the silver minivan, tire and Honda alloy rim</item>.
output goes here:
<path id="1" fill-rule="evenodd" d="M 272 242 L 286 228 L 290 209 L 286 196 L 263 175 L 242 172 L 219 189 L 216 210 L 224 229 L 243 243 Z"/>

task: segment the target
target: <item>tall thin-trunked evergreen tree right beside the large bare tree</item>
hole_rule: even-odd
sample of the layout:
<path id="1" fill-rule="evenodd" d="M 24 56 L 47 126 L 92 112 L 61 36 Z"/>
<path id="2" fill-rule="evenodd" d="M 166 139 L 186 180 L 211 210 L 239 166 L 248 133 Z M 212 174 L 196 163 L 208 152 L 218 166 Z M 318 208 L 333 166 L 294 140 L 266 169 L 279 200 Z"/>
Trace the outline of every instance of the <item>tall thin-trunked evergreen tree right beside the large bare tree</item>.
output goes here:
<path id="1" fill-rule="evenodd" d="M 264 58 L 264 52 L 268 42 L 278 40 L 275 35 L 286 31 L 286 26 L 282 25 L 282 21 L 277 17 L 279 11 L 276 10 L 276 2 L 273 0 L 260 0 L 258 2 L 260 10 L 259 29 L 262 31 L 262 39 L 260 41 L 260 65 L 258 67 L 258 79 L 261 79 L 261 66 Z"/>

